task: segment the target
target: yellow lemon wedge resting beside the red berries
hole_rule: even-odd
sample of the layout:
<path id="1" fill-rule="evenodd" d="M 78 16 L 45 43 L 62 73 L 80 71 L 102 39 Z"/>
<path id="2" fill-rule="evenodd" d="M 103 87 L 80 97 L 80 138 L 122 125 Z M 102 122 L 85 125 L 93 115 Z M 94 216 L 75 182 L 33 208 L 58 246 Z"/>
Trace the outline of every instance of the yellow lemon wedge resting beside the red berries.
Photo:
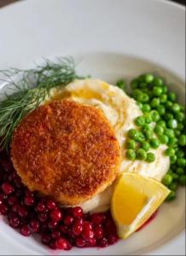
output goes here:
<path id="1" fill-rule="evenodd" d="M 111 212 L 120 238 L 131 236 L 160 207 L 170 190 L 154 178 L 123 172 L 116 182 Z"/>

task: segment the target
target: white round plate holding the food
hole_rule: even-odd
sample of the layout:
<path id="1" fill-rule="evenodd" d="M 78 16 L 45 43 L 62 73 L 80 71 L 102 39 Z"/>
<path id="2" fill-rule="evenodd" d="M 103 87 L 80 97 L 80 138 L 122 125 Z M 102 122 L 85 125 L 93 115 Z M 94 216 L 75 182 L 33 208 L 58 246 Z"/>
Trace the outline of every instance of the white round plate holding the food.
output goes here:
<path id="1" fill-rule="evenodd" d="M 0 9 L 0 68 L 29 67 L 55 55 L 73 55 L 80 73 L 114 82 L 153 71 L 172 82 L 184 102 L 185 11 L 158 0 L 32 0 Z M 105 249 L 52 252 L 0 221 L 5 254 L 185 254 L 185 190 L 165 203 L 144 230 Z"/>

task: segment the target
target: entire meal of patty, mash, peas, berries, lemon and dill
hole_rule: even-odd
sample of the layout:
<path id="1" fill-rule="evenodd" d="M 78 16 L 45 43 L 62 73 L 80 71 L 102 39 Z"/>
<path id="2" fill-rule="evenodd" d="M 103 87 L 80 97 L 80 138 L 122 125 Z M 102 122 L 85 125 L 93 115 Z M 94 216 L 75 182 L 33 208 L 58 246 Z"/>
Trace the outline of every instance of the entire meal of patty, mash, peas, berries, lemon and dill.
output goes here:
<path id="1" fill-rule="evenodd" d="M 0 213 L 64 250 L 131 236 L 186 183 L 184 108 L 165 81 L 142 74 L 128 92 L 74 67 L 6 70 L 0 102 Z"/>

